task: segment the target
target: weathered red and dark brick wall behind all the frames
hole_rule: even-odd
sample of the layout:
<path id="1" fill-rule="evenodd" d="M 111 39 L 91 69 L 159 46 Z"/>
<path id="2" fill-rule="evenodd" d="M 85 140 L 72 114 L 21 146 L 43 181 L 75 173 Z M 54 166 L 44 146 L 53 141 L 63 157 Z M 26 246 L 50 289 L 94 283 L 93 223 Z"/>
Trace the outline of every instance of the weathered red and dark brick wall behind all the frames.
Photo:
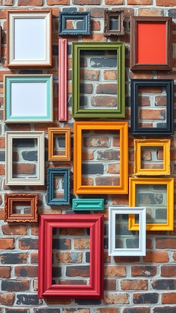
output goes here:
<path id="1" fill-rule="evenodd" d="M 9 70 L 6 67 L 6 9 L 28 8 L 53 10 L 53 68 L 52 69 L 28 69 Z M 5 185 L 5 131 L 45 131 L 45 168 L 46 167 L 70 167 L 71 162 L 48 162 L 48 127 L 71 127 L 71 41 L 116 41 L 116 38 L 103 36 L 103 13 L 104 9 L 125 10 L 125 35 L 118 37 L 118 41 L 126 43 L 126 116 L 124 121 L 130 119 L 130 78 L 169 78 L 176 79 L 176 0 L 0 0 L 0 25 L 3 28 L 3 61 L 0 64 L 0 312 L 1 313 L 175 313 L 176 312 L 176 224 L 171 232 L 158 231 L 147 232 L 147 253 L 145 257 L 110 257 L 108 256 L 108 206 L 128 205 L 128 195 L 102 195 L 105 203 L 105 227 L 104 227 L 104 279 L 105 291 L 103 300 L 63 300 L 63 299 L 38 299 L 37 298 L 37 262 L 38 262 L 38 225 L 37 223 L 4 223 L 4 193 L 7 192 L 37 192 L 39 194 L 38 213 L 72 213 L 71 205 L 56 207 L 46 205 L 45 186 L 6 186 Z M 91 35 L 68 36 L 68 121 L 59 123 L 58 116 L 58 14 L 59 11 L 90 11 L 91 12 Z M 129 70 L 129 38 L 130 38 L 130 15 L 153 15 L 173 16 L 173 71 L 131 72 Z M 108 56 L 109 62 L 113 61 L 113 55 Z M 110 69 L 108 64 L 102 68 L 96 68 L 98 58 L 103 55 L 82 55 L 81 80 L 86 80 L 87 91 L 82 94 L 81 104 L 85 107 L 96 108 L 102 105 L 104 98 L 111 97 L 111 107 L 115 104 L 116 89 L 116 64 Z M 93 59 L 93 63 L 91 62 Z M 85 61 L 87 63 L 85 63 Z M 103 63 L 103 58 L 101 58 Z M 94 66 L 92 66 L 94 65 Z M 54 123 L 50 124 L 3 124 L 3 74 L 54 74 Z M 101 84 L 107 84 L 106 89 Z M 111 84 L 111 86 L 110 86 Z M 85 84 L 84 84 L 85 86 Z M 111 87 L 111 88 L 110 88 Z M 93 93 L 90 91 L 93 90 Z M 109 90 L 111 92 L 109 92 Z M 176 92 L 176 89 L 175 89 Z M 152 97 L 151 97 L 152 94 Z M 98 96 L 98 97 L 97 97 Z M 108 98 L 109 100 L 109 98 Z M 164 90 L 141 90 L 142 115 L 140 122 L 163 123 L 165 112 Z M 153 120 L 146 119 L 145 110 L 155 109 Z M 158 111 L 160 110 L 159 114 Z M 161 114 L 162 113 L 162 114 Z M 95 120 L 95 119 L 94 119 Z M 118 121 L 118 120 L 116 120 Z M 111 133 L 86 133 L 83 141 L 83 179 L 87 180 L 90 173 L 90 164 L 98 162 L 97 169 L 106 169 L 106 175 L 91 172 L 89 179 L 96 184 L 96 177 L 103 180 L 104 176 L 118 179 L 118 134 Z M 94 140 L 92 141 L 92 138 Z M 98 140 L 95 140 L 95 137 Z M 103 137 L 103 140 L 102 140 Z M 106 137 L 106 140 L 104 140 Z M 135 139 L 142 139 L 137 136 Z M 150 138 L 147 136 L 147 138 Z M 159 137 L 158 137 L 159 138 Z M 171 177 L 176 174 L 176 149 L 174 137 L 171 136 Z M 133 176 L 134 151 L 133 137 L 129 135 L 129 175 Z M 160 138 L 161 139 L 161 138 Z M 73 140 L 73 133 L 72 133 Z M 92 143 L 93 142 L 93 143 Z M 103 146 L 106 142 L 106 146 Z M 56 147 L 62 154 L 64 143 L 56 142 Z M 73 155 L 73 141 L 72 141 Z M 26 152 L 30 151 L 30 153 Z M 27 174 L 26 164 L 35 164 L 35 144 L 29 147 L 14 146 L 13 161 L 20 159 L 23 173 Z M 150 153 L 149 153 L 150 154 Z M 145 159 L 144 152 L 144 161 Z M 151 153 L 152 155 L 152 153 Z M 116 162 L 117 160 L 117 162 Z M 159 152 L 154 156 L 154 161 L 162 160 Z M 158 164 L 158 163 L 157 163 Z M 150 166 L 150 165 L 149 165 Z M 87 171 L 87 168 L 89 171 Z M 91 166 L 93 169 L 93 166 Z M 93 171 L 93 170 L 92 170 Z M 19 172 L 18 172 L 19 173 Z M 104 175 L 104 176 L 103 176 Z M 61 179 L 61 177 L 60 177 Z M 46 180 L 45 180 L 46 181 Z M 71 177 L 71 188 L 73 178 Z M 102 181 L 101 181 L 102 183 Z M 61 183 L 55 181 L 56 192 L 61 192 Z M 58 189 L 59 188 L 59 191 Z M 72 192 L 72 190 L 71 190 Z M 147 194 L 148 193 L 148 194 Z M 155 201 L 153 194 L 156 190 L 139 191 L 138 200 L 144 202 Z M 165 201 L 164 191 L 157 190 L 160 195 L 160 204 Z M 102 197 L 100 195 L 100 197 Z M 84 195 L 85 198 L 88 198 Z M 90 195 L 89 195 L 90 197 Z M 147 198 L 146 198 L 147 197 Z M 153 200 L 152 200 L 153 197 Z M 140 200 L 141 199 L 141 200 Z M 18 203 L 17 203 L 18 204 Z M 25 207 L 26 208 L 26 207 Z M 158 210 L 163 210 L 160 206 Z M 148 217 L 150 218 L 150 208 Z M 86 213 L 89 213 L 86 211 Z M 102 213 L 102 212 L 100 212 Z M 162 213 L 162 215 L 161 215 Z M 158 212 L 158 217 L 164 216 L 164 211 Z M 156 217 L 156 216 L 155 216 Z M 121 235 L 125 235 L 127 221 L 124 226 L 118 228 Z M 132 239 L 132 236 L 130 239 Z M 53 280 L 64 284 L 65 281 L 88 282 L 89 272 L 89 233 L 86 229 L 60 229 L 54 230 L 53 242 L 59 243 L 60 249 L 53 249 Z M 54 247 L 54 244 L 53 244 Z M 58 245 L 57 245 L 58 247 Z M 87 276 L 86 276 L 87 275 Z M 70 282 L 71 283 L 71 282 Z"/>

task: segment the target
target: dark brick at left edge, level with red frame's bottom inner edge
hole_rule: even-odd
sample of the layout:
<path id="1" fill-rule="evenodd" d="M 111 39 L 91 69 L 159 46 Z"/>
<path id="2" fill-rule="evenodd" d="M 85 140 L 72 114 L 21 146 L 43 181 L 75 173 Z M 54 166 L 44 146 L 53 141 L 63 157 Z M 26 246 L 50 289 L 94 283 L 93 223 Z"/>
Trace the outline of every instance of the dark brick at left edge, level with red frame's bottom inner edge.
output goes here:
<path id="1" fill-rule="evenodd" d="M 28 280 L 2 280 L 1 290 L 26 291 L 26 290 L 29 290 L 29 281 Z"/>

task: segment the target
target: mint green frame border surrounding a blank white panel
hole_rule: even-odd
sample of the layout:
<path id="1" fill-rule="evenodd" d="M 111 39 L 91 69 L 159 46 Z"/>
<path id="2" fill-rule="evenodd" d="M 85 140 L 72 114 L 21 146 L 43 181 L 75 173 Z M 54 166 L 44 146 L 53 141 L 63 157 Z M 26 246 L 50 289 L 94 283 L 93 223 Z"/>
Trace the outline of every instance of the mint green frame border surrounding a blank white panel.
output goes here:
<path id="1" fill-rule="evenodd" d="M 11 86 L 12 83 L 46 82 L 46 115 L 12 115 Z M 32 92 L 32 90 L 31 90 Z M 35 96 L 35 95 L 34 95 Z M 39 109 L 42 106 L 38 102 Z M 24 101 L 25 105 L 25 101 Z M 4 123 L 53 122 L 53 75 L 4 75 Z"/>

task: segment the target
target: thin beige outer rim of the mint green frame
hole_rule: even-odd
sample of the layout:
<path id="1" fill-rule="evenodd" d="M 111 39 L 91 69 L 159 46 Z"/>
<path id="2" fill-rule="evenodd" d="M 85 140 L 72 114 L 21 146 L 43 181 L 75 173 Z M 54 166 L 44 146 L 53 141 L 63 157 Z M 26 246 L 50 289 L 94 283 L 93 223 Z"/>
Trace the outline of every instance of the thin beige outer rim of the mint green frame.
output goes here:
<path id="1" fill-rule="evenodd" d="M 3 90 L 4 90 L 4 123 L 5 124 L 8 124 L 8 123 L 37 123 L 37 122 L 40 122 L 40 123 L 47 123 L 47 122 L 53 122 L 53 74 L 4 74 L 4 80 L 3 80 L 3 83 L 4 83 L 4 87 L 3 87 Z M 49 107 L 50 105 L 50 115 L 51 115 L 51 119 L 46 119 L 46 120 L 8 120 L 6 119 L 6 77 L 11 77 L 12 80 L 16 77 L 36 77 L 36 78 L 39 78 L 39 77 L 50 77 L 50 91 L 51 91 L 51 97 L 50 97 L 50 103 L 47 104 L 47 108 Z M 10 105 L 10 104 L 9 104 Z"/>

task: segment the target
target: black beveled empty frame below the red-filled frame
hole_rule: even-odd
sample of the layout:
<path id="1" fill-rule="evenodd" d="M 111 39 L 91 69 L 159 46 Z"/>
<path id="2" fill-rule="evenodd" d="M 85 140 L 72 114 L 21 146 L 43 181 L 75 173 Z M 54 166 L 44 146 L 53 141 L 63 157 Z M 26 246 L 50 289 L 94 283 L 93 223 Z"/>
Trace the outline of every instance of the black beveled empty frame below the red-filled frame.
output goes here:
<path id="1" fill-rule="evenodd" d="M 131 134 L 173 135 L 174 134 L 174 80 L 173 79 L 131 79 Z M 138 127 L 138 86 L 166 87 L 167 127 Z"/>

